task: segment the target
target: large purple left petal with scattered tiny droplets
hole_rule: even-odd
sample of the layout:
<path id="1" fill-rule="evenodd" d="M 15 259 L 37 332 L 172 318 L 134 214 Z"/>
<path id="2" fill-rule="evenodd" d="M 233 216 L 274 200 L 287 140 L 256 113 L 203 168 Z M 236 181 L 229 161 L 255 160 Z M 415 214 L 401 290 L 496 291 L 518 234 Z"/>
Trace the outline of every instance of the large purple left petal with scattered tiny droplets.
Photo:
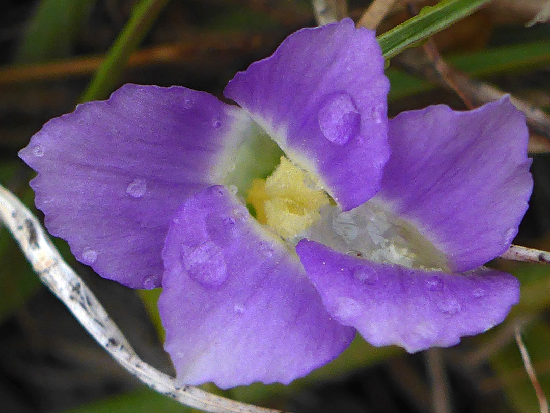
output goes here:
<path id="1" fill-rule="evenodd" d="M 206 93 L 129 84 L 46 123 L 19 154 L 48 230 L 103 277 L 152 288 L 173 214 L 217 182 L 243 115 Z"/>

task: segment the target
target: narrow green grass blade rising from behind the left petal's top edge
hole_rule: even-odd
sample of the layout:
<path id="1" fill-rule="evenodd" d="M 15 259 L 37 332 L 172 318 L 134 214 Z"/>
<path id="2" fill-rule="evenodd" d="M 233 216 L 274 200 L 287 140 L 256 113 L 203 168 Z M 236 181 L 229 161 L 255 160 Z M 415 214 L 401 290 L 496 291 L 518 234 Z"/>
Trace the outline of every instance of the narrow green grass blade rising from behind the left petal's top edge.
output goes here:
<path id="1" fill-rule="evenodd" d="M 101 67 L 97 69 L 81 101 L 106 99 L 117 85 L 128 58 L 138 48 L 168 0 L 141 0 L 128 23 L 114 42 Z"/>

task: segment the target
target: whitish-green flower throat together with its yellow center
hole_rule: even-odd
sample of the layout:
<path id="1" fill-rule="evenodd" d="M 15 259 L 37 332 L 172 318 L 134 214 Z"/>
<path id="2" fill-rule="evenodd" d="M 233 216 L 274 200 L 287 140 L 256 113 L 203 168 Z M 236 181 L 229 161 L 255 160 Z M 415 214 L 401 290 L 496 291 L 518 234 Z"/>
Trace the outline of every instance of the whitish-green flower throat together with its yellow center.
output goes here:
<path id="1" fill-rule="evenodd" d="M 231 168 L 223 183 L 238 192 L 263 229 L 281 239 L 289 251 L 308 238 L 376 262 L 449 270 L 444 254 L 382 200 L 375 197 L 344 212 L 312 173 L 281 155 L 281 149 L 257 127 L 235 152 L 233 165 L 239 167 Z"/>

